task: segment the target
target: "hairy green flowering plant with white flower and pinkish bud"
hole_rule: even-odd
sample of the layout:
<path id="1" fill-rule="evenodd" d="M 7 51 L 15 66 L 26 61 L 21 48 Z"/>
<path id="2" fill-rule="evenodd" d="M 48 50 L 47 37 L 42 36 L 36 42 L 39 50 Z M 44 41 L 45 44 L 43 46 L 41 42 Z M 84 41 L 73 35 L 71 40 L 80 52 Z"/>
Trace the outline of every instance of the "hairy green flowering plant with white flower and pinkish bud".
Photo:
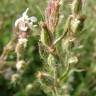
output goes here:
<path id="1" fill-rule="evenodd" d="M 56 34 L 59 27 L 62 0 L 49 1 L 45 18 L 39 24 L 35 16 L 29 17 L 27 15 L 28 8 L 23 12 L 22 16 L 15 21 L 12 39 L 4 47 L 0 57 L 0 64 L 5 66 L 9 54 L 11 52 L 16 54 L 15 71 L 8 66 L 8 68 L 11 68 L 10 70 L 6 69 L 7 71 L 3 70 L 1 72 L 6 79 L 11 81 L 10 84 L 19 85 L 21 89 L 24 87 L 25 94 L 29 94 L 31 90 L 31 96 L 34 96 L 33 91 L 36 91 L 37 88 L 47 96 L 70 96 L 71 83 L 74 82 L 73 73 L 83 71 L 83 69 L 75 68 L 79 59 L 74 52 L 74 49 L 77 49 L 77 45 L 79 45 L 77 44 L 76 33 L 82 31 L 85 21 L 85 16 L 82 13 L 82 3 L 82 0 L 73 0 L 71 13 L 66 22 L 62 20 L 65 25 L 58 38 Z M 38 24 L 38 28 L 40 27 L 38 49 L 43 66 L 37 70 L 35 80 L 23 85 L 23 75 L 30 67 L 27 62 L 29 60 L 25 58 L 25 53 L 27 53 L 26 48 L 29 47 L 28 41 L 35 23 Z M 72 77 L 71 80 L 70 77 Z"/>

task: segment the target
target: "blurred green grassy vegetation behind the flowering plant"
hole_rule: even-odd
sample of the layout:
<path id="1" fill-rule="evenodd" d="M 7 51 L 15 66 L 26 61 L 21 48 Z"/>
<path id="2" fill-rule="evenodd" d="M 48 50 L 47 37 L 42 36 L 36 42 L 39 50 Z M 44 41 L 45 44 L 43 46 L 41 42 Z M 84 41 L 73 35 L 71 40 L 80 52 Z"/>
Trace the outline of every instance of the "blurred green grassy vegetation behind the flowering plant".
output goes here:
<path id="1" fill-rule="evenodd" d="M 0 54 L 3 47 L 11 38 L 12 27 L 15 20 L 21 16 L 21 13 L 29 8 L 29 16 L 36 16 L 38 21 L 41 21 L 44 16 L 45 8 L 48 0 L 0 0 Z M 62 23 L 66 20 L 70 13 L 72 0 L 64 0 L 61 14 L 64 15 Z M 85 27 L 78 34 L 83 48 L 80 50 L 81 58 L 78 63 L 78 68 L 83 68 L 86 71 L 75 73 L 75 83 L 71 96 L 96 96 L 96 0 L 84 0 L 83 13 L 87 16 Z M 63 24 L 60 27 L 62 30 Z M 38 53 L 39 30 L 34 29 L 32 38 L 29 40 L 28 52 L 26 59 L 30 59 L 30 68 L 23 77 L 22 83 L 28 84 L 35 78 L 35 72 L 42 67 L 42 63 Z M 13 63 L 15 54 L 10 54 L 8 61 Z M 34 91 L 38 93 L 38 89 Z M 14 95 L 13 95 L 14 94 Z M 40 91 L 37 95 L 26 95 L 23 89 L 8 85 L 0 75 L 0 96 L 46 96 Z"/>

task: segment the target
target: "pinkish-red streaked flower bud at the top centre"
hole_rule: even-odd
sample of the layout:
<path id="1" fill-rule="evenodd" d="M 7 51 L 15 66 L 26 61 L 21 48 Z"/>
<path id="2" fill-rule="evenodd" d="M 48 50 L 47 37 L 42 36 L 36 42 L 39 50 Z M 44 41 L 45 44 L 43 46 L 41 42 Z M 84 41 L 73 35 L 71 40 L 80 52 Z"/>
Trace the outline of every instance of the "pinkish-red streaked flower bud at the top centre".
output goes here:
<path id="1" fill-rule="evenodd" d="M 46 25 L 50 32 L 54 32 L 59 20 L 59 7 L 61 0 L 50 0 L 46 9 Z"/>

